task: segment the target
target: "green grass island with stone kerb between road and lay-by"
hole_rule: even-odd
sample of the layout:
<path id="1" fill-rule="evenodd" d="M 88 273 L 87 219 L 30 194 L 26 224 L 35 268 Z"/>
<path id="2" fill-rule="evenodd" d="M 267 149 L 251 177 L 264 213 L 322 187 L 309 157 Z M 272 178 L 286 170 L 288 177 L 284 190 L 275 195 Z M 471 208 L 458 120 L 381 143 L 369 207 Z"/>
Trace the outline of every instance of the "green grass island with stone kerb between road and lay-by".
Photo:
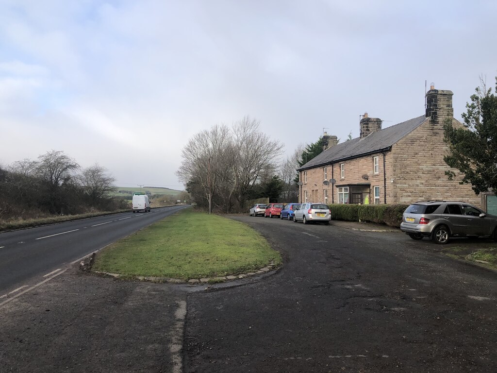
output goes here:
<path id="1" fill-rule="evenodd" d="M 200 279 L 260 269 L 280 254 L 247 225 L 184 209 L 102 250 L 94 271 Z"/>

